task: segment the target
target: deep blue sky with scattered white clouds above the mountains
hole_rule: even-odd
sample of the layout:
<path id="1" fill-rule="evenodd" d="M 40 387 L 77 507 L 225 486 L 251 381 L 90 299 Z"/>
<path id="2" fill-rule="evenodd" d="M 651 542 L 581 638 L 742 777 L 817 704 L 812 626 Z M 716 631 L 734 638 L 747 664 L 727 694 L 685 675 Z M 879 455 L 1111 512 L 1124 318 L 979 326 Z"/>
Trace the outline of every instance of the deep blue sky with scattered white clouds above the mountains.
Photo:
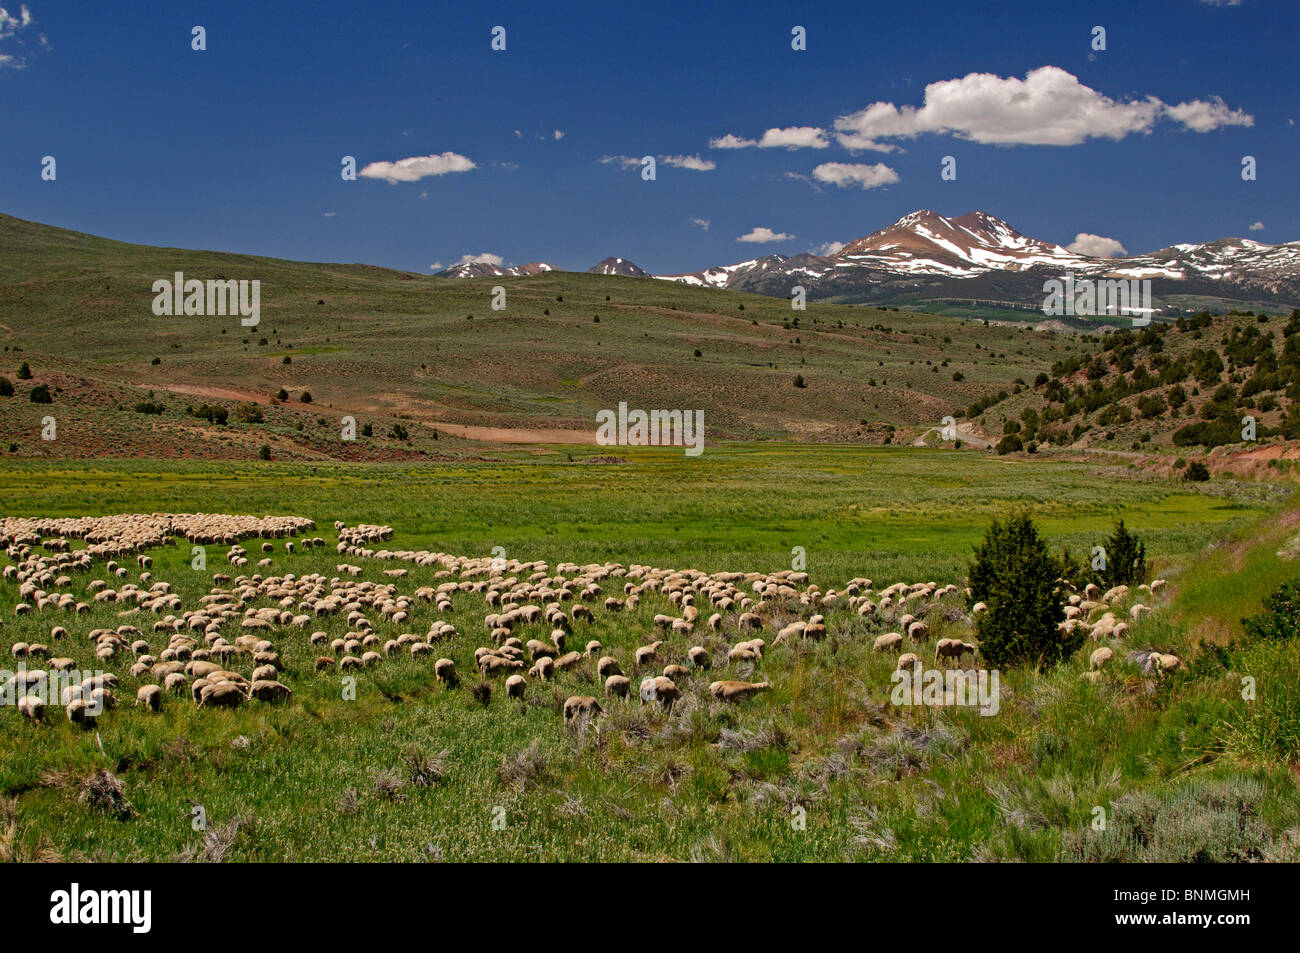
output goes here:
<path id="1" fill-rule="evenodd" d="M 1300 239 L 1295 0 L 296 7 L 0 0 L 0 211 L 424 273 L 697 270 L 916 208 L 1130 254 Z M 767 130 L 801 147 L 718 147 Z M 670 157 L 653 182 L 618 159 L 644 155 Z M 473 168 L 377 177 L 422 156 Z"/>

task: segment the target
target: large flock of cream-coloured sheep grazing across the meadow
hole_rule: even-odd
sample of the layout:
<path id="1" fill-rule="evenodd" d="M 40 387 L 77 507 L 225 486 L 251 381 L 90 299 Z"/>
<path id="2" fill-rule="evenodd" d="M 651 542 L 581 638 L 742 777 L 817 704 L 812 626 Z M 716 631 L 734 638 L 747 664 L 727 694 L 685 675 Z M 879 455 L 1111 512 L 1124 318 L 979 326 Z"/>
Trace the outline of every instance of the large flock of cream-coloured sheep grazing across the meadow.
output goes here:
<path id="1" fill-rule="evenodd" d="M 849 580 L 841 589 L 822 590 L 807 573 L 796 571 L 703 573 L 619 563 L 558 563 L 551 568 L 541 562 L 376 549 L 393 536 L 391 527 L 335 523 L 334 529 L 339 556 L 391 564 L 380 571 L 382 581 L 359 579 L 364 567 L 354 562 L 338 563 L 337 575 L 329 577 L 217 572 L 209 592 L 187 607 L 169 582 L 153 580 L 152 559 L 144 550 L 174 545 L 176 537 L 195 545 L 220 543 L 228 547 L 225 559 L 235 571 L 247 567 L 251 558 L 257 559 L 259 568 L 273 562 L 276 545 L 263 542 L 260 555 L 250 554 L 240 545 L 250 538 L 283 540 L 286 559 L 326 542 L 307 536 L 315 524 L 298 517 L 152 514 L 0 519 L 0 547 L 10 560 L 3 577 L 18 586 L 14 614 L 53 616 L 56 623 L 48 641 L 16 642 L 10 647 L 23 664 L 4 685 L 5 697 L 17 698 L 18 710 L 30 719 L 43 718 L 44 699 L 57 698 L 70 722 L 94 724 L 103 711 L 114 707 L 120 681 L 112 673 L 62 677 L 87 668 L 73 658 L 77 650 L 69 646 L 78 646 L 96 664 L 130 659 L 127 672 L 135 683 L 135 702 L 148 711 L 161 710 L 168 696 L 188 697 L 203 707 L 235 707 L 252 699 L 276 702 L 291 694 L 280 677 L 283 663 L 277 642 L 299 638 L 315 647 L 312 667 L 318 673 L 372 668 L 406 654 L 426 658 L 433 677 L 455 688 L 462 670 L 447 657 L 455 653 L 439 651 L 460 636 L 455 625 L 437 619 L 422 634 L 404 629 L 412 628 L 419 602 L 447 615 L 454 601 L 473 598 L 481 599 L 485 611 L 484 644 L 474 649 L 472 667 L 484 683 L 503 677 L 508 698 L 525 698 L 530 683 L 551 683 L 569 670 L 589 673 L 594 667 L 604 703 L 592 694 L 568 696 L 563 716 L 566 723 L 573 723 L 602 715 L 610 699 L 630 697 L 633 677 L 638 679 L 636 696 L 642 703 L 671 709 L 688 683 L 722 670 L 724 677 L 708 683 L 710 696 L 740 702 L 770 688 L 767 680 L 749 680 L 768 646 L 826 638 L 828 614 L 838 614 L 836 625 L 857 616 L 874 628 L 896 629 L 876 637 L 875 650 L 898 653 L 898 668 L 919 666 L 916 651 L 901 650 L 919 650 L 928 641 L 927 616 L 952 619 L 953 610 L 940 601 L 958 594 L 957 586 L 935 582 L 896 582 L 875 590 L 872 581 L 863 577 Z M 72 546 L 75 538 L 84 541 L 83 549 Z M 129 556 L 134 556 L 134 568 Z M 107 579 L 84 581 L 101 560 Z M 410 594 L 402 592 L 400 582 L 408 576 L 403 563 L 432 571 L 428 575 L 433 585 Z M 136 581 L 127 581 L 133 572 Z M 82 581 L 74 582 L 74 576 Z M 1157 580 L 1145 589 L 1154 593 L 1162 585 Z M 598 612 L 636 610 L 651 594 L 671 612 L 654 616 L 653 632 L 628 657 L 620 659 L 598 640 L 577 634 L 584 629 L 592 634 Z M 1062 628 L 1083 625 L 1096 641 L 1119 640 L 1130 623 L 1119 620 L 1114 607 L 1127 595 L 1123 586 L 1108 593 L 1089 586 L 1071 594 Z M 124 621 L 73 636 L 69 625 L 92 603 L 120 606 L 117 615 Z M 974 612 L 983 610 L 982 603 L 974 606 Z M 1147 611 L 1138 603 L 1128 616 L 1136 620 Z M 140 628 L 146 614 L 156 620 Z M 330 637 L 320 628 L 328 619 L 342 619 L 343 625 L 335 628 L 346 627 L 346 634 Z M 976 651 L 970 642 L 940 638 L 933 658 L 961 664 Z M 1098 675 L 1113 655 L 1109 646 L 1093 651 L 1088 675 Z M 468 657 L 462 662 L 471 666 Z M 44 667 L 27 668 L 27 663 Z M 1178 668 L 1179 660 L 1148 653 L 1141 664 L 1170 671 Z"/>

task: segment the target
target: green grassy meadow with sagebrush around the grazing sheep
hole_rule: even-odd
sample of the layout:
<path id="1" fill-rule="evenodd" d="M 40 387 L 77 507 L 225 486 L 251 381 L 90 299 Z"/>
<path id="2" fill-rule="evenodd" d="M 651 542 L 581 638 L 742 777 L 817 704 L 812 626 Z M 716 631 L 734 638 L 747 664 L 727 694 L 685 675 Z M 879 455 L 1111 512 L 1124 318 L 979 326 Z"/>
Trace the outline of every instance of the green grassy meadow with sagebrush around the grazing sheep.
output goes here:
<path id="1" fill-rule="evenodd" d="M 777 571 L 803 547 L 823 589 L 868 576 L 965 584 L 971 547 L 993 515 L 1023 506 L 1053 547 L 1087 553 L 1123 516 L 1170 580 L 1126 649 L 1173 651 L 1188 664 L 1158 684 L 1117 650 L 1087 681 L 1088 644 L 1049 671 L 1002 672 L 1001 709 L 889 703 L 896 657 L 874 653 L 883 629 L 846 608 L 828 612 L 819 642 L 771 646 L 757 667 L 701 675 L 671 712 L 611 701 L 582 731 L 566 728 L 569 694 L 601 694 L 589 662 L 551 684 L 529 679 L 526 701 L 486 705 L 474 646 L 486 640 L 482 597 L 451 612 L 416 602 L 403 629 L 436 619 L 459 636 L 439 644 L 464 683 L 434 683 L 432 657 L 406 654 L 358 675 L 355 701 L 337 675 L 312 672 L 307 633 L 277 629 L 294 696 L 234 711 L 168 698 L 131 707 L 130 659 L 121 706 L 96 731 L 55 710 L 43 724 L 0 710 L 0 857 L 8 859 L 459 861 L 459 859 L 1297 859 L 1300 705 L 1294 647 L 1244 644 L 1240 618 L 1291 577 L 1300 508 L 1290 485 L 1171 484 L 1123 464 L 1014 460 L 959 451 L 740 443 L 688 459 L 619 449 L 500 450 L 490 460 L 407 464 L 212 462 L 10 462 L 0 468 L 6 516 L 200 511 L 299 515 L 337 540 L 333 520 L 386 523 L 389 549 L 507 558 L 618 560 L 673 568 Z M 260 556 L 257 540 L 244 541 Z M 79 545 L 79 543 L 77 543 Z M 153 551 L 153 577 L 186 607 L 229 571 L 208 547 L 207 572 L 188 546 Z M 1280 555 L 1279 555 L 1280 554 Z M 399 589 L 432 585 L 430 568 L 335 555 L 289 555 L 277 541 L 264 573 L 361 564 L 361 579 L 410 568 Z M 252 572 L 255 567 L 248 567 Z M 77 573 L 81 590 L 96 573 Z M 133 576 L 134 579 L 134 567 Z M 616 589 L 610 580 L 607 592 Z M 73 637 L 60 653 L 84 667 L 78 633 L 121 621 L 16 618 L 17 586 L 0 581 L 0 645 Z M 653 616 L 675 608 L 647 593 L 632 611 L 597 611 L 575 641 L 597 638 L 630 670 Z M 53 618 L 57 615 L 57 618 Z M 770 631 L 789 618 L 775 610 Z M 939 637 L 968 637 L 957 597 L 927 615 Z M 147 631 L 151 619 L 138 619 Z M 330 616 L 313 627 L 346 629 Z M 545 628 L 523 637 L 545 638 Z M 398 627 L 376 619 L 382 637 Z M 147 634 L 147 637 L 150 637 Z M 156 637 L 151 637 L 156 638 Z M 741 636 L 671 637 L 677 660 L 698 641 L 711 653 Z M 931 655 L 926 655 L 930 651 Z M 630 672 L 629 672 L 630 673 Z M 1242 675 L 1258 697 L 1240 697 Z M 772 689 L 728 706 L 711 677 L 753 677 Z M 57 718 L 53 715 L 58 715 Z M 130 810 L 94 810 L 83 779 L 107 768 Z M 202 806 L 205 831 L 194 829 Z M 1110 823 L 1091 823 L 1102 807 Z"/>

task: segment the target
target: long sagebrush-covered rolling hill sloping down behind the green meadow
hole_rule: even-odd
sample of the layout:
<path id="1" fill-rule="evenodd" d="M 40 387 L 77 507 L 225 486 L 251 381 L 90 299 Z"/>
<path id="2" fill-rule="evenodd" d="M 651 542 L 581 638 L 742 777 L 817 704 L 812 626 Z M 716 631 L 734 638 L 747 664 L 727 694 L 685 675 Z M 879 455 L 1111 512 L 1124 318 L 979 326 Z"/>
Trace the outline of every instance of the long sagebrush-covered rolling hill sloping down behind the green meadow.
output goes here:
<path id="1" fill-rule="evenodd" d="M 1088 347 L 1027 326 L 793 311 L 667 281 L 447 281 L 127 244 L 8 216 L 0 247 L 0 376 L 16 386 L 0 398 L 0 450 L 18 455 L 364 460 L 590 445 L 597 411 L 620 402 L 702 410 L 710 441 L 900 442 Z M 176 272 L 260 281 L 260 324 L 156 316 L 153 282 Z M 491 307 L 498 285 L 503 311 Z M 52 403 L 30 400 L 39 385 Z M 53 441 L 40 439 L 46 416 Z M 355 441 L 341 439 L 343 416 Z"/>

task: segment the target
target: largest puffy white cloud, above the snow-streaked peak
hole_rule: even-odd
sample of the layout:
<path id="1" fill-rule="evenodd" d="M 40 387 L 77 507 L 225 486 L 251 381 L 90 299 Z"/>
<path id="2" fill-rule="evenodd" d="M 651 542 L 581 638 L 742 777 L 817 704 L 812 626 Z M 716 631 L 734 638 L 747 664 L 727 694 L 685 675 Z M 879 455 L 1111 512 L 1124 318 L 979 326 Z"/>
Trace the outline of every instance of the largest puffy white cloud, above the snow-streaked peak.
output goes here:
<path id="1" fill-rule="evenodd" d="M 837 140 L 849 150 L 889 152 L 884 139 L 940 133 L 984 144 L 1078 146 L 1087 139 L 1145 134 L 1160 118 L 1206 133 L 1253 118 L 1221 99 L 1169 107 L 1156 96 L 1114 100 L 1058 66 L 1040 66 L 1024 78 L 968 73 L 926 86 L 924 103 L 898 107 L 872 103 L 835 121 Z"/>

